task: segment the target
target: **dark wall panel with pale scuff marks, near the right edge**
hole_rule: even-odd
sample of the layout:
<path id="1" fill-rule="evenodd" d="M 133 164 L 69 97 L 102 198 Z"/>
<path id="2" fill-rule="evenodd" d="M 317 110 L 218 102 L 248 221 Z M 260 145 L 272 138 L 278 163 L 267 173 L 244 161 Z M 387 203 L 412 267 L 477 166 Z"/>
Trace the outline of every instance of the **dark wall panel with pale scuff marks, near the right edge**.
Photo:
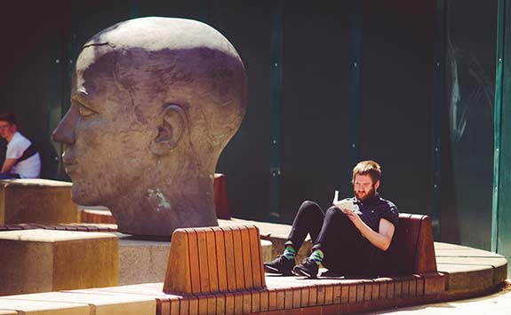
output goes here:
<path id="1" fill-rule="evenodd" d="M 497 0 L 448 4 L 442 240 L 490 249 Z"/>

